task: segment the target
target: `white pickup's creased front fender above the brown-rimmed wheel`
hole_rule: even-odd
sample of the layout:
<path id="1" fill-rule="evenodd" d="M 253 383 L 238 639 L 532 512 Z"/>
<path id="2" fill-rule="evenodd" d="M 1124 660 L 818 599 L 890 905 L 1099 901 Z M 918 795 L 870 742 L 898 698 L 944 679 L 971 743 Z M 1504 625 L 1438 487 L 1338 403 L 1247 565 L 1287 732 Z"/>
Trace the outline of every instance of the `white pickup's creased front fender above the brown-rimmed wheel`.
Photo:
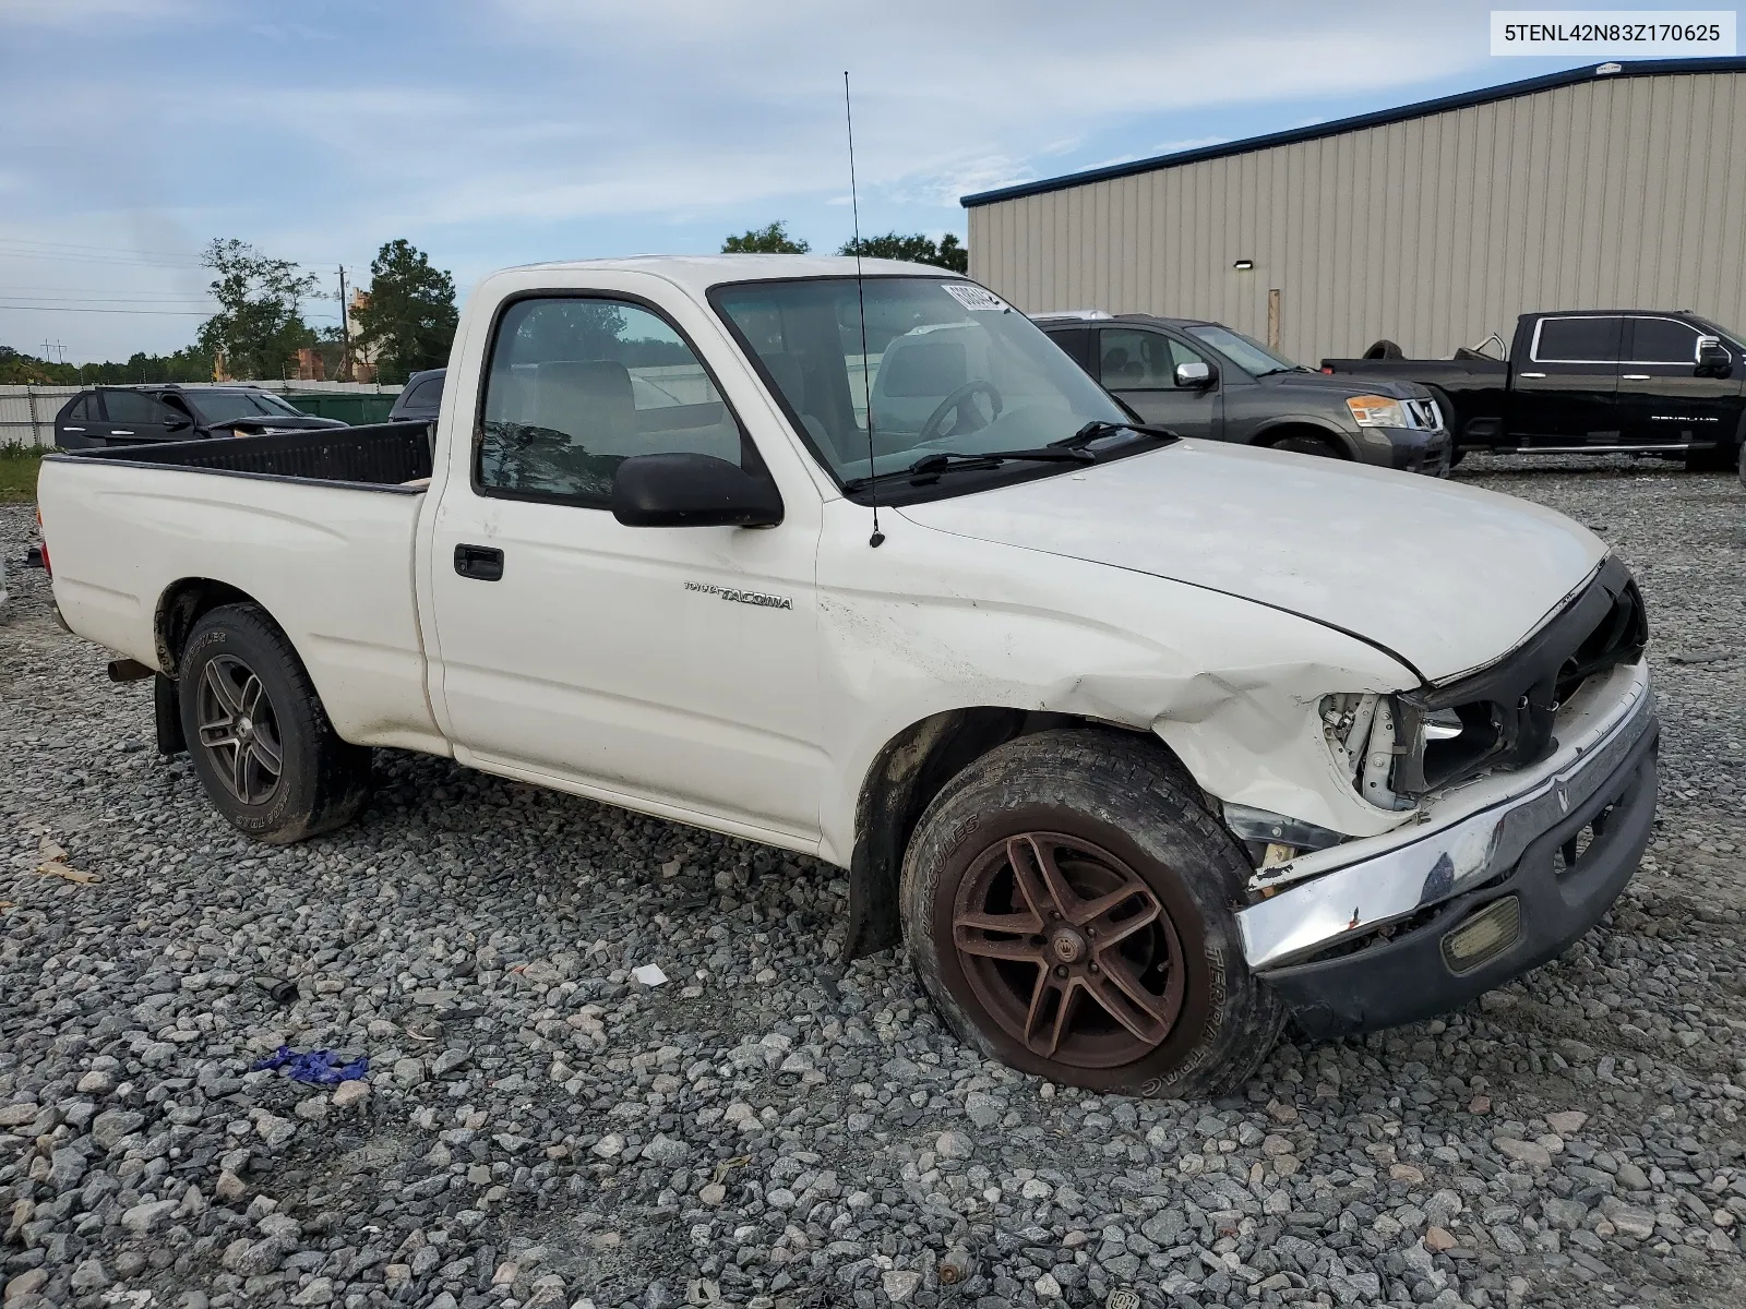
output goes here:
<path id="1" fill-rule="evenodd" d="M 1152 731 L 1219 799 L 1351 836 L 1406 817 L 1365 803 L 1322 742 L 1322 696 L 1418 686 L 1351 635 L 1203 586 L 903 520 L 878 552 L 829 524 L 824 536 L 843 543 L 819 560 L 835 771 L 821 853 L 836 864 L 850 862 L 857 805 L 890 745 L 934 716 L 983 709 Z"/>

